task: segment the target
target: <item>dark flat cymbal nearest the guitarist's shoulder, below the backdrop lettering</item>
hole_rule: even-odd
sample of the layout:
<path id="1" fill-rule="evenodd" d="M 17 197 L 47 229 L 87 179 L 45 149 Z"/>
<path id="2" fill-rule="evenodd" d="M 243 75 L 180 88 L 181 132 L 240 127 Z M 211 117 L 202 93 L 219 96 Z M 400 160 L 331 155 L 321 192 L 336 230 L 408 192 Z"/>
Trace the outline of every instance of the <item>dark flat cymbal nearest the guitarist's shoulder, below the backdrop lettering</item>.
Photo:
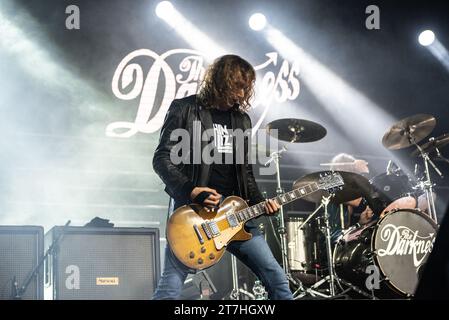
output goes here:
<path id="1" fill-rule="evenodd" d="M 270 122 L 266 129 L 272 137 L 288 142 L 318 141 L 327 134 L 322 125 L 303 119 L 278 119 Z M 273 131 L 276 129 L 277 136 Z"/>

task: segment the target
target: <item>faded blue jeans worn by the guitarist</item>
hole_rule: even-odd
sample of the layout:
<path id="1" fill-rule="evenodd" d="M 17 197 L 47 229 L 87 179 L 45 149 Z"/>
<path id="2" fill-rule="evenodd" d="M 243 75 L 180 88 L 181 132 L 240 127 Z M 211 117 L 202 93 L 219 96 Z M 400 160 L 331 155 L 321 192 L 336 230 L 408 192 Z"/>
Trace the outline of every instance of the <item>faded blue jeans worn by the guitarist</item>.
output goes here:
<path id="1" fill-rule="evenodd" d="M 227 250 L 242 261 L 262 281 L 272 300 L 292 300 L 284 270 L 274 258 L 262 235 L 253 236 L 248 241 L 231 242 Z M 179 299 L 184 281 L 193 273 L 176 259 L 170 249 L 165 249 L 165 263 L 154 300 Z"/>

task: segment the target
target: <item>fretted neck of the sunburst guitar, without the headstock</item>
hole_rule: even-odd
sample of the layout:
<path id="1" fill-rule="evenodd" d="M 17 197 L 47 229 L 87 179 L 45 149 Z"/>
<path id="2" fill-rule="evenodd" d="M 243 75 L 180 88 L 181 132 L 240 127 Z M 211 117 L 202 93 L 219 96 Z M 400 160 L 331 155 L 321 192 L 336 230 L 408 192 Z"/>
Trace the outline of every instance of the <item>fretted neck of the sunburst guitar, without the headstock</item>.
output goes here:
<path id="1" fill-rule="evenodd" d="M 278 195 L 277 197 L 271 198 L 271 200 L 275 201 L 279 205 L 284 205 L 290 203 L 292 201 L 301 199 L 315 191 L 317 191 L 318 185 L 316 183 L 311 183 L 305 185 L 303 187 L 294 189 L 290 192 L 286 192 L 284 194 Z M 234 215 L 239 222 L 246 222 L 253 218 L 256 218 L 265 213 L 265 202 L 260 202 L 254 206 L 245 208 L 238 212 L 235 212 Z"/>

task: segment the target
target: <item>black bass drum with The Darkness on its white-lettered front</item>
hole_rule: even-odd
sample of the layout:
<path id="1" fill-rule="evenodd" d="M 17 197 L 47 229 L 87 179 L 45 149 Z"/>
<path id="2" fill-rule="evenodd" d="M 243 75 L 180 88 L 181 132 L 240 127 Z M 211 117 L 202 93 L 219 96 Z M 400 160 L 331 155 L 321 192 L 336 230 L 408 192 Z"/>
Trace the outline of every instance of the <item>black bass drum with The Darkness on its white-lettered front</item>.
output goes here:
<path id="1" fill-rule="evenodd" d="M 435 223 L 419 210 L 393 210 L 342 235 L 333 253 L 335 271 L 365 292 L 374 289 L 376 297 L 411 297 L 436 233 Z"/>

